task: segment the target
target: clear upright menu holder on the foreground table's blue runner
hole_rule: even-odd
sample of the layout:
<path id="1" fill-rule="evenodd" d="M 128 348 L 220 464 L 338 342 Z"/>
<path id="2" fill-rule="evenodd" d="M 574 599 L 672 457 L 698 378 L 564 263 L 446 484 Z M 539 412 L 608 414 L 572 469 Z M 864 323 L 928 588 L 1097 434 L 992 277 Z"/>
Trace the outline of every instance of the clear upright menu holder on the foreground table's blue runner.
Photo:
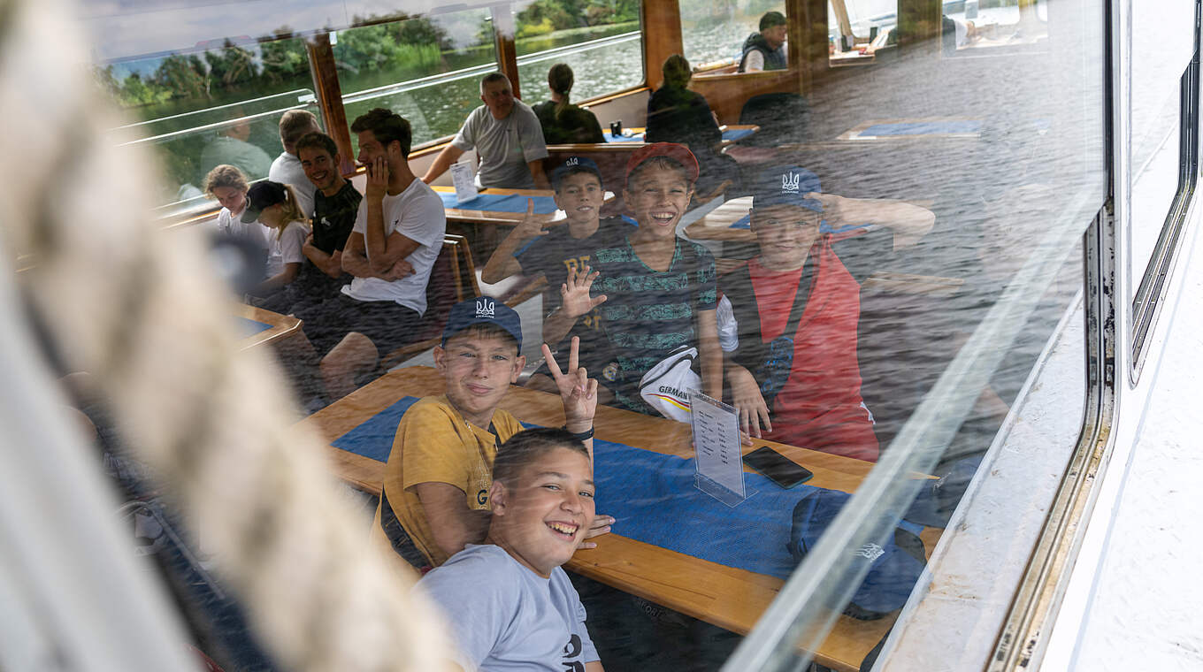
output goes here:
<path id="1" fill-rule="evenodd" d="M 693 486 L 735 507 L 755 494 L 743 481 L 739 414 L 718 399 L 689 391 L 689 416 L 698 470 Z"/>

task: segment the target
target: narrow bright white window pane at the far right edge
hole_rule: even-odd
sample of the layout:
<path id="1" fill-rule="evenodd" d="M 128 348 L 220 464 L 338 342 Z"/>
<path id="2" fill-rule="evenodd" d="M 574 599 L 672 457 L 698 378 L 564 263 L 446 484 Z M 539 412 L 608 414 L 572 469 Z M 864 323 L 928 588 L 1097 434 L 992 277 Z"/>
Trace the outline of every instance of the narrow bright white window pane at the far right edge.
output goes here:
<path id="1" fill-rule="evenodd" d="M 1195 113 L 1183 101 L 1183 79 L 1195 53 L 1193 25 L 1193 2 L 1162 2 L 1157 10 L 1142 6 L 1132 12 L 1132 220 L 1127 233 L 1133 278 L 1149 264 L 1158 234 L 1175 225 L 1175 196 L 1193 185 L 1195 171 L 1185 165 L 1192 156 L 1183 155 L 1180 132 L 1183 114 Z"/>

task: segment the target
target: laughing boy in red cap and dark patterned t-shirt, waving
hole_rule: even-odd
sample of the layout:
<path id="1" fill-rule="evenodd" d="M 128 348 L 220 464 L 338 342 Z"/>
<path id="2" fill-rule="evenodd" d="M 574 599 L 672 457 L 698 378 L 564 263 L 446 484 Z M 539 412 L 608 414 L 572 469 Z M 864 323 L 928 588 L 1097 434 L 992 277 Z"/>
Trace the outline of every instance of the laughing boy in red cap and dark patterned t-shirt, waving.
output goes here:
<path id="1" fill-rule="evenodd" d="M 635 150 L 622 197 L 639 228 L 593 252 L 592 291 L 599 295 L 593 301 L 605 297 L 598 303 L 610 355 L 599 383 L 614 393 L 616 405 L 647 415 L 664 414 L 645 402 L 644 375 L 683 349 L 697 347 L 701 391 L 716 399 L 723 394 L 715 257 L 676 234 L 697 179 L 698 161 L 680 144 Z M 586 283 L 575 280 L 564 292 L 565 305 L 591 295 Z"/>

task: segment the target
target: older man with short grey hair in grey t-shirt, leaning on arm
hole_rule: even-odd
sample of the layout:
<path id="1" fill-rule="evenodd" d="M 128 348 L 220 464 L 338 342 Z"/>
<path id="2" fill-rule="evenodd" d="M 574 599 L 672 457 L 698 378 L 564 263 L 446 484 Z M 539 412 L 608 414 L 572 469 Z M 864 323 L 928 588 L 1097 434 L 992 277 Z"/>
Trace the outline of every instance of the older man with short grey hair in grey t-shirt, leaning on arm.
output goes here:
<path id="1" fill-rule="evenodd" d="M 509 78 L 500 72 L 486 75 L 480 81 L 480 100 L 485 105 L 472 111 L 451 144 L 426 171 L 422 182 L 434 182 L 464 151 L 475 147 L 480 156 L 476 172 L 479 186 L 547 189 L 547 178 L 543 173 L 547 144 L 534 111 L 514 97 Z"/>

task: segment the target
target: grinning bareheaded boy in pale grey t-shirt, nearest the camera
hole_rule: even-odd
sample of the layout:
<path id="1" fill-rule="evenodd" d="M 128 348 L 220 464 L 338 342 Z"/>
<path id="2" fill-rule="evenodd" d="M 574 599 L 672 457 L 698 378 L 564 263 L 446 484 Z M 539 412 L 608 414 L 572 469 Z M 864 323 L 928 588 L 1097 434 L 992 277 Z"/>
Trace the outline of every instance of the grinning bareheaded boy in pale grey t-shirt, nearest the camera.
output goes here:
<path id="1" fill-rule="evenodd" d="M 442 607 L 466 671 L 602 672 L 585 606 L 561 569 L 594 513 L 592 457 L 579 436 L 511 436 L 493 463 L 485 545 L 468 545 L 417 584 Z"/>

